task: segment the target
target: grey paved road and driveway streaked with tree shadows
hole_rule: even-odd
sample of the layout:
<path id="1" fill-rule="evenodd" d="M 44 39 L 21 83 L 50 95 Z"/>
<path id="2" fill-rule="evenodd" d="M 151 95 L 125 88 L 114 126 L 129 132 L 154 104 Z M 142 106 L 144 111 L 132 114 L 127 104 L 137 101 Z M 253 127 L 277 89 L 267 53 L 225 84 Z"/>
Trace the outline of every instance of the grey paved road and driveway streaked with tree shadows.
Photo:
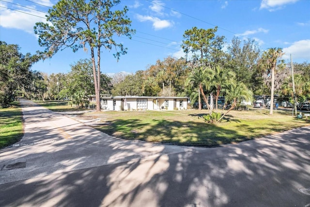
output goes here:
<path id="1" fill-rule="evenodd" d="M 310 127 L 217 148 L 124 141 L 31 101 L 0 206 L 310 207 Z"/>

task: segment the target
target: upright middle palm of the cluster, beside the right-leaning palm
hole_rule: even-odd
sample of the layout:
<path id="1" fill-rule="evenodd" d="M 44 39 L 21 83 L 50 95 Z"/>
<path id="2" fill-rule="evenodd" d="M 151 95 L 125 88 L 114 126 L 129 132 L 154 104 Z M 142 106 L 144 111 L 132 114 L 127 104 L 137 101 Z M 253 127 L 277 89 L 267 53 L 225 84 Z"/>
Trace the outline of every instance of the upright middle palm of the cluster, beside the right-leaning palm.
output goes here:
<path id="1" fill-rule="evenodd" d="M 222 87 L 226 85 L 227 83 L 231 82 L 232 79 L 234 79 L 236 75 L 234 72 L 225 70 L 224 68 L 220 66 L 217 66 L 214 72 L 215 73 L 212 76 L 211 84 L 215 87 L 215 91 L 216 91 L 215 101 L 216 101 L 216 112 L 217 112 L 218 110 L 217 101 L 218 101 L 219 94 L 222 90 Z"/>

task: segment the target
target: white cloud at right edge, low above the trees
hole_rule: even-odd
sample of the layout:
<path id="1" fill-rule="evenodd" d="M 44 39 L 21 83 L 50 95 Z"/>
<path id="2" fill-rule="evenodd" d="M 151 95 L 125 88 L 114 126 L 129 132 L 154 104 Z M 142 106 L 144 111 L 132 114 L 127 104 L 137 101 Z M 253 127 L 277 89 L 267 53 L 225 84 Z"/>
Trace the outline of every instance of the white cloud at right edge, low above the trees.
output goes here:
<path id="1" fill-rule="evenodd" d="M 294 59 L 310 61 L 310 39 L 294 42 L 290 47 L 283 48 L 283 52 L 283 59 L 289 59 L 292 54 Z"/>

